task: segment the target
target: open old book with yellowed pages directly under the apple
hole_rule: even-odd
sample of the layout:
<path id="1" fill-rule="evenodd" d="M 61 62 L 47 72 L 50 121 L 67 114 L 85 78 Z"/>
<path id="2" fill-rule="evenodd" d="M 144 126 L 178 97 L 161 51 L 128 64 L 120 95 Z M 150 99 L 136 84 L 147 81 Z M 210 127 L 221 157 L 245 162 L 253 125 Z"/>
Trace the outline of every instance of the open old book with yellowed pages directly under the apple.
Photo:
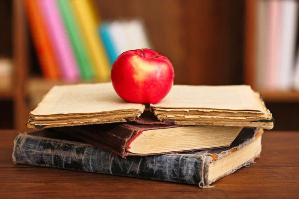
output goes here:
<path id="1" fill-rule="evenodd" d="M 150 104 L 161 124 L 273 128 L 273 118 L 250 86 L 174 85 L 166 98 Z M 135 121 L 145 104 L 130 103 L 111 83 L 55 86 L 30 112 L 27 127 L 61 127 Z"/>

